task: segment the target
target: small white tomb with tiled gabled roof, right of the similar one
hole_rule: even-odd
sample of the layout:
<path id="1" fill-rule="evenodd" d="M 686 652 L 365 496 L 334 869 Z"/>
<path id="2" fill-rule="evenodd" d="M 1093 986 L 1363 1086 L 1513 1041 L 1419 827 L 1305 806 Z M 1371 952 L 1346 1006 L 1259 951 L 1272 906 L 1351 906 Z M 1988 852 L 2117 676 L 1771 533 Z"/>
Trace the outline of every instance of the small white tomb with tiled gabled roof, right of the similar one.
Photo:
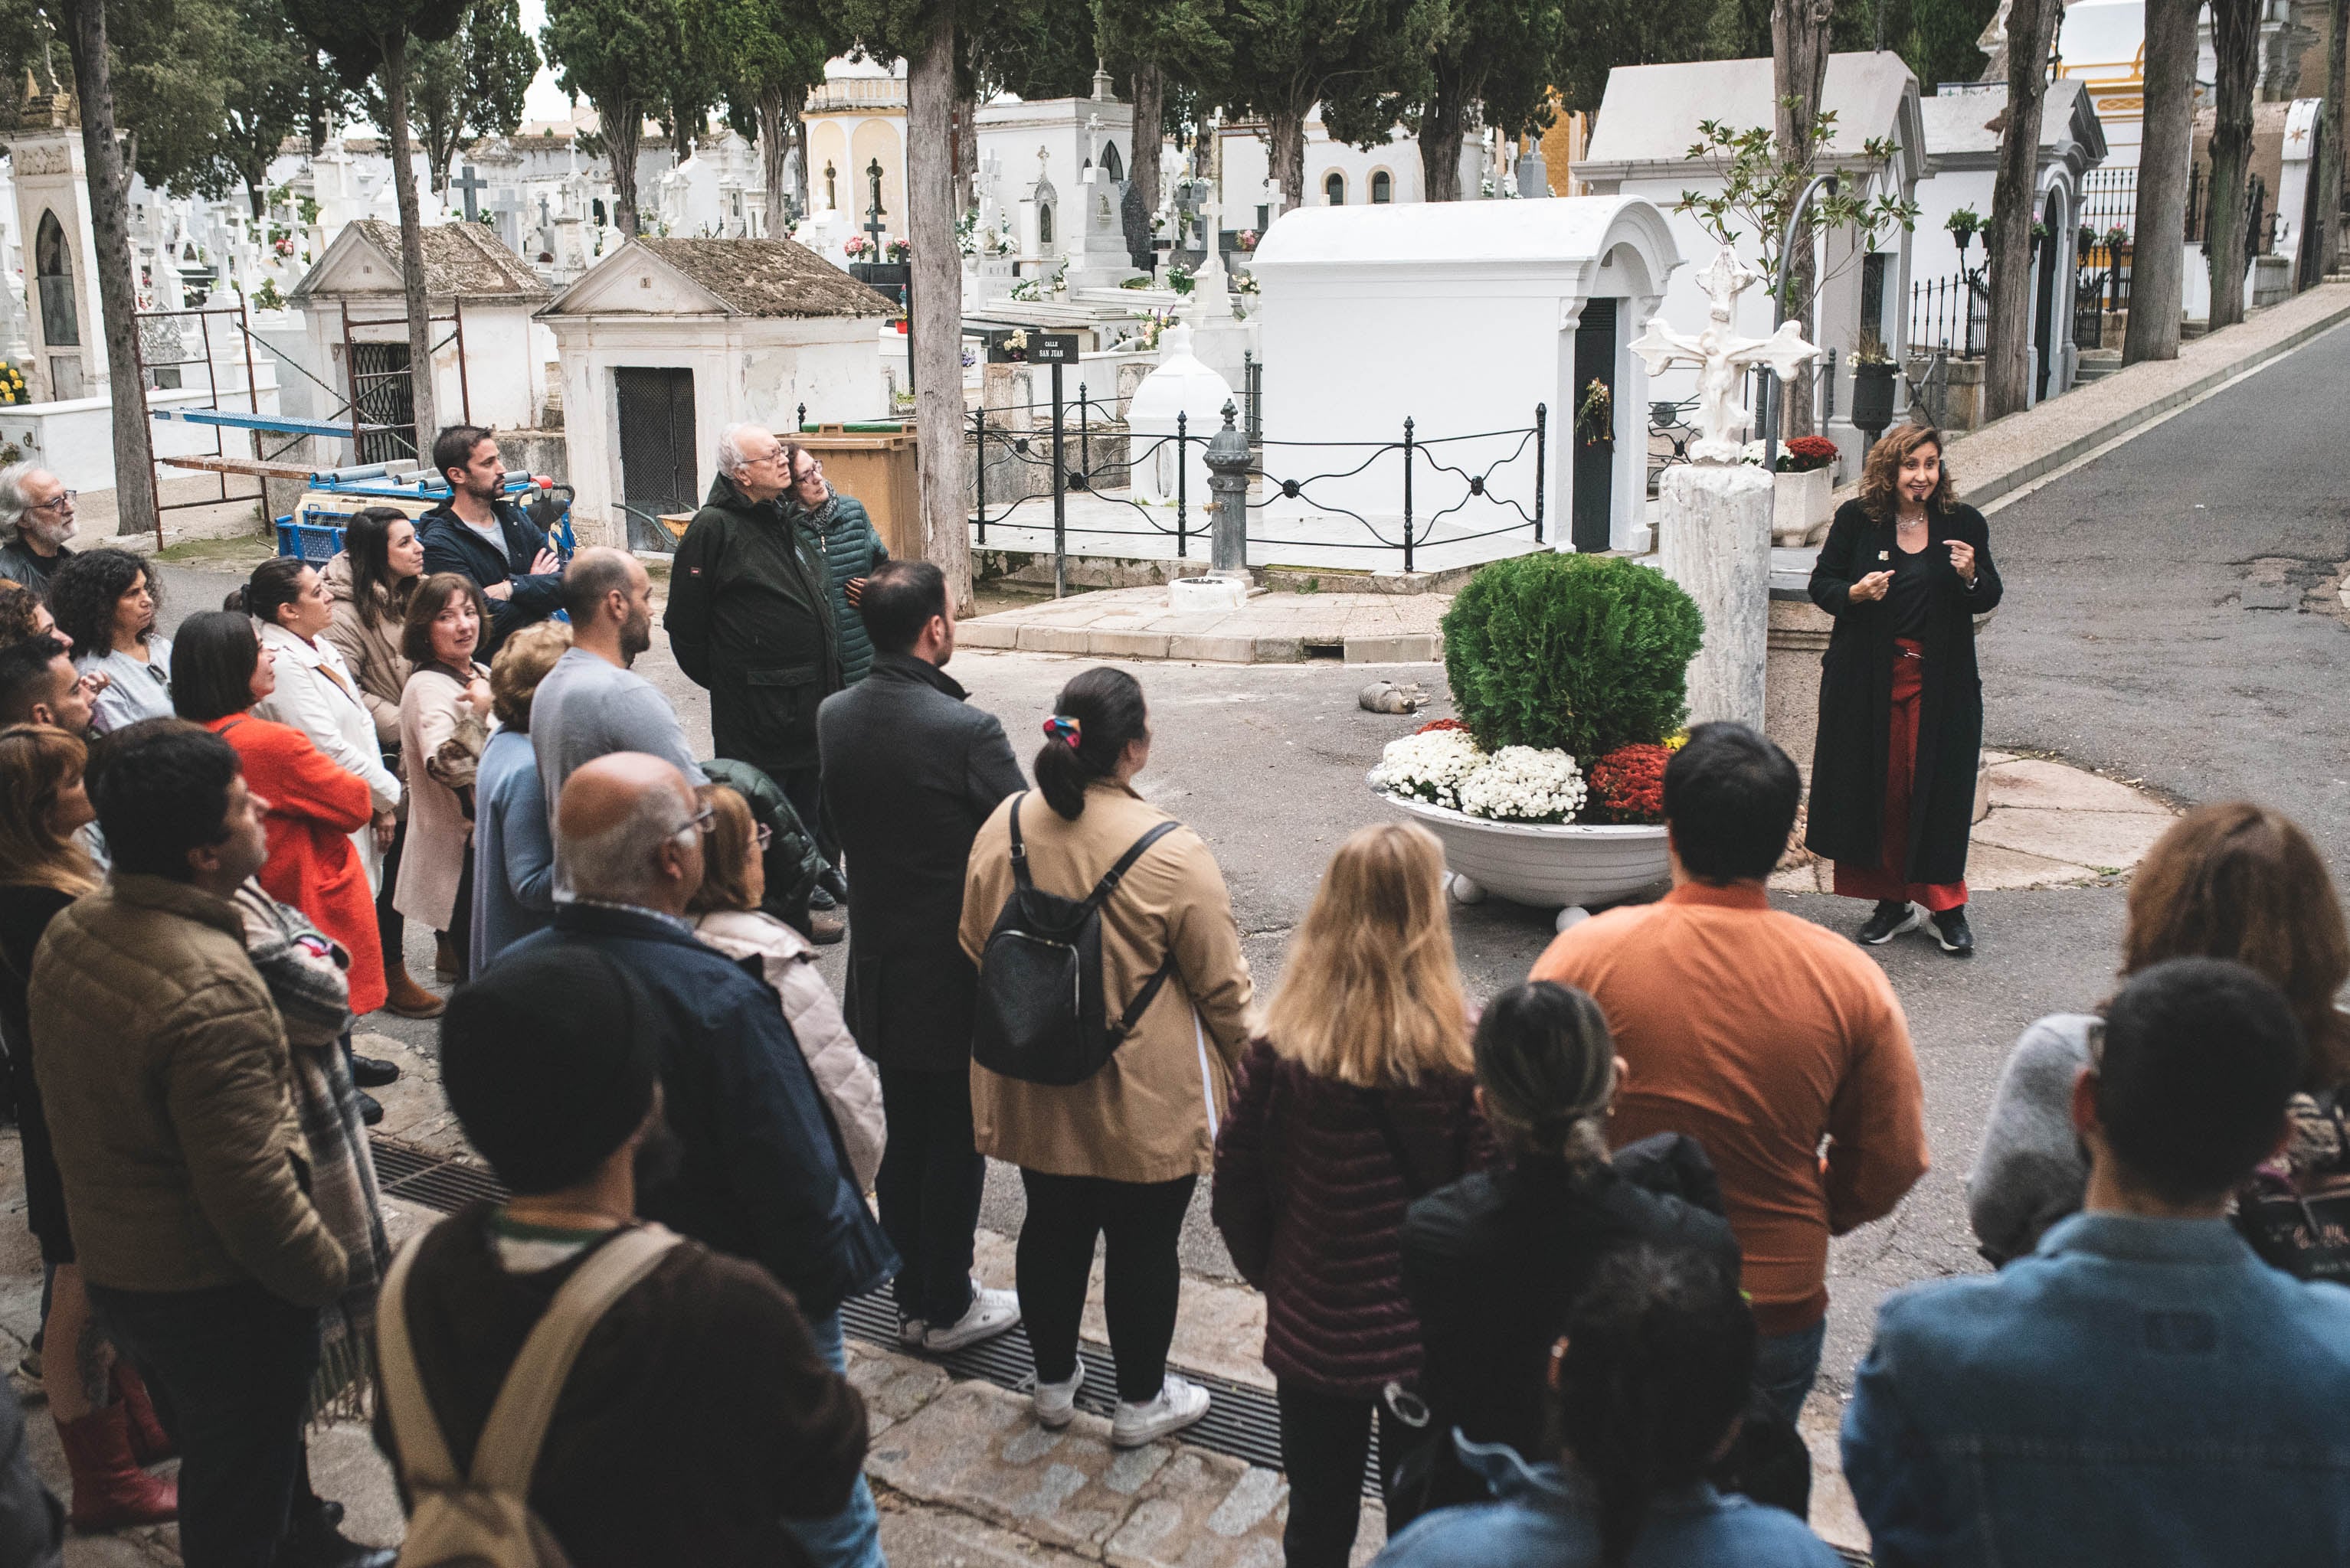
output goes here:
<path id="1" fill-rule="evenodd" d="M 538 312 L 555 333 L 580 538 L 670 549 L 719 432 L 888 411 L 895 305 L 790 239 L 630 239 Z"/>

